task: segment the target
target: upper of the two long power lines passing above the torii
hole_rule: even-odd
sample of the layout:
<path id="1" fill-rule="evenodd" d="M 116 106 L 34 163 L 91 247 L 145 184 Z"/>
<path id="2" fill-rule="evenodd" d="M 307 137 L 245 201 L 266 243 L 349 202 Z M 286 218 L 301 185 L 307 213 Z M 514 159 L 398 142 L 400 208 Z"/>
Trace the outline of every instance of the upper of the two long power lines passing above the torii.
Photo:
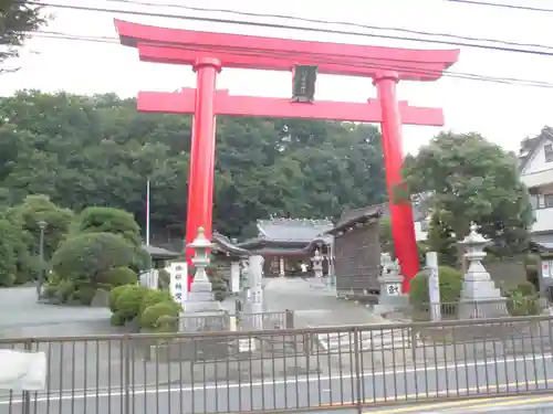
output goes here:
<path id="1" fill-rule="evenodd" d="M 545 45 L 545 44 L 519 43 L 519 42 L 511 42 L 511 41 L 504 41 L 504 40 L 499 40 L 499 39 L 462 36 L 462 35 L 451 34 L 451 33 L 425 32 L 425 31 L 418 31 L 418 30 L 411 30 L 411 29 L 392 28 L 392 26 L 376 26 L 376 25 L 367 25 L 367 24 L 352 23 L 352 22 L 337 21 L 337 20 L 321 20 L 321 19 L 301 18 L 301 17 L 295 17 L 295 15 L 272 14 L 272 13 L 253 13 L 253 12 L 231 10 L 231 9 L 206 9 L 206 8 L 199 8 L 199 7 L 192 7 L 192 6 L 171 4 L 171 3 L 154 3 L 154 2 L 140 1 L 140 0 L 104 0 L 104 1 L 114 2 L 114 3 L 145 6 L 145 7 L 174 8 L 174 9 L 182 9 L 182 10 L 190 10 L 190 11 L 199 11 L 199 12 L 236 14 L 236 15 L 242 15 L 242 17 L 247 15 L 247 17 L 251 17 L 251 18 L 285 19 L 285 20 L 295 20 L 295 21 L 302 21 L 302 22 L 307 22 L 307 23 L 344 25 L 344 26 L 368 29 L 368 30 L 383 30 L 383 31 L 418 34 L 418 35 L 426 35 L 426 36 L 459 39 L 462 41 L 500 43 L 500 44 L 507 44 L 507 45 L 511 45 L 511 46 L 540 47 L 540 49 L 553 50 L 553 46 Z"/>

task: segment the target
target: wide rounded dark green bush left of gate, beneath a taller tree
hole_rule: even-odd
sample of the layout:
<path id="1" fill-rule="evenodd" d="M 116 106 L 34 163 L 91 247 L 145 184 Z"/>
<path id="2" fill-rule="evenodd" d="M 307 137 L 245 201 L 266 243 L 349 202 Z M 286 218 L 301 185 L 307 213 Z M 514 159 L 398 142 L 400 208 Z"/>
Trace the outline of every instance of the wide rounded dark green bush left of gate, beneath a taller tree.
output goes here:
<path id="1" fill-rule="evenodd" d="M 64 279 L 96 283 L 100 275 L 128 266 L 134 259 L 134 246 L 119 235 L 81 234 L 62 243 L 52 257 L 52 267 Z"/>

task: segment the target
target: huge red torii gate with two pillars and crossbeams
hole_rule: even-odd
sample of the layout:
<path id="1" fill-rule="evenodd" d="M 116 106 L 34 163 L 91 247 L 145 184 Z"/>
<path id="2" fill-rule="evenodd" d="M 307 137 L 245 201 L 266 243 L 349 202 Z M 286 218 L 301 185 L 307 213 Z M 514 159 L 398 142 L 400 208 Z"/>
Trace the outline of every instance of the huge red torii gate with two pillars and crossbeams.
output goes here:
<path id="1" fill-rule="evenodd" d="M 394 203 L 401 182 L 401 125 L 442 126 L 437 108 L 411 107 L 396 98 L 398 81 L 437 81 L 457 62 L 458 50 L 409 50 L 307 42 L 191 30 L 157 28 L 115 20 L 121 43 L 138 49 L 140 61 L 191 65 L 197 88 L 177 93 L 142 92 L 138 110 L 194 114 L 188 183 L 187 244 L 204 226 L 211 236 L 216 115 L 276 118 L 315 118 L 380 123 L 396 255 L 405 275 L 404 291 L 419 269 L 410 203 Z M 317 66 L 319 73 L 371 77 L 377 99 L 367 104 L 342 102 L 298 103 L 283 98 L 232 96 L 217 91 L 217 74 L 225 67 L 293 71 Z M 189 261 L 194 252 L 187 250 Z"/>

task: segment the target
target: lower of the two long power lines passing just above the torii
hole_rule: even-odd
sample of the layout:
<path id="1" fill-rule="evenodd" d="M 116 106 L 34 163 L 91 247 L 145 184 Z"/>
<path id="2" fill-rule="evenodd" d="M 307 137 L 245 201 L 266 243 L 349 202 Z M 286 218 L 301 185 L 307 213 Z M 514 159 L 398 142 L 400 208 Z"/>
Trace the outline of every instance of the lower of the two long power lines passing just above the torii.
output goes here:
<path id="1" fill-rule="evenodd" d="M 232 19 L 219 19 L 219 18 L 202 18 L 202 17 L 196 17 L 196 15 L 178 15 L 178 14 L 176 15 L 176 14 L 170 14 L 170 13 L 153 13 L 153 12 L 144 12 L 144 11 L 96 8 L 96 7 L 87 7 L 87 6 L 52 4 L 52 3 L 44 3 L 44 2 L 38 2 L 38 1 L 25 1 L 25 3 L 32 4 L 32 6 L 42 6 L 42 7 L 51 7 L 51 8 L 58 8 L 58 9 L 67 9 L 67 10 L 93 11 L 93 12 L 103 12 L 103 13 L 121 13 L 121 14 L 150 17 L 150 18 L 164 18 L 164 19 L 180 19 L 180 20 L 210 22 L 210 23 L 225 23 L 225 24 L 236 24 L 236 25 L 257 26 L 257 28 L 284 29 L 284 30 L 293 30 L 293 31 L 353 35 L 353 36 L 362 36 L 362 38 L 378 38 L 378 39 L 388 39 L 388 40 L 400 40 L 400 41 L 445 44 L 445 45 L 452 45 L 452 46 L 476 47 L 476 49 L 493 50 L 493 51 L 500 51 L 500 52 L 553 56 L 553 52 L 545 52 L 545 51 L 535 51 L 535 50 L 505 47 L 505 46 L 493 46 L 493 45 L 484 45 L 484 44 L 477 44 L 477 43 L 452 42 L 452 41 L 445 41 L 445 40 L 429 40 L 429 39 L 420 39 L 420 38 L 395 36 L 395 35 L 386 35 L 386 34 L 364 33 L 364 32 L 349 32 L 349 31 L 336 30 L 336 29 L 321 29 L 321 28 L 305 28 L 305 26 L 299 28 L 299 26 L 291 25 L 291 24 L 263 23 L 263 22 L 252 22 L 252 21 L 247 21 L 247 20 L 232 20 Z M 550 46 L 547 46 L 547 47 L 550 47 Z"/>

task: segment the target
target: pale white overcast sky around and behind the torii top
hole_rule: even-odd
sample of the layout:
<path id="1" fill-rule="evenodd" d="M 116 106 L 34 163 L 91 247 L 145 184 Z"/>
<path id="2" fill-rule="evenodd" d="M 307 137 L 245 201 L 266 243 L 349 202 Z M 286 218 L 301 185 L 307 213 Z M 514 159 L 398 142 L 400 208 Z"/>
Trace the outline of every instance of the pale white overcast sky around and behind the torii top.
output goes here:
<path id="1" fill-rule="evenodd" d="M 553 86 L 553 55 L 523 54 L 466 46 L 387 40 L 369 34 L 405 36 L 390 30 L 368 30 L 333 24 L 314 24 L 292 18 L 346 21 L 379 28 L 398 28 L 428 33 L 448 33 L 478 39 L 494 39 L 525 44 L 551 46 L 553 52 L 553 13 L 498 9 L 450 2 L 447 0 L 136 0 L 154 4 L 181 4 L 206 9 L 232 9 L 264 14 L 284 14 L 289 19 L 255 18 L 257 21 L 296 26 L 365 32 L 366 36 L 346 36 L 269 28 L 248 28 L 221 23 L 129 15 L 122 12 L 91 12 L 48 7 L 53 20 L 43 31 L 79 36 L 116 39 L 113 19 L 186 28 L 191 30 L 267 35 L 275 38 L 355 43 L 414 49 L 460 49 L 460 57 L 450 71 L 480 76 L 509 77 L 549 82 Z M 484 0 L 492 1 L 492 0 Z M 49 4 L 79 4 L 112 10 L 134 10 L 171 15 L 195 15 L 238 20 L 250 17 L 221 12 L 199 12 L 163 6 L 140 6 L 134 0 L 44 0 Z M 494 2 L 553 9 L 551 0 L 494 0 Z M 421 35 L 410 35 L 424 38 Z M 432 36 L 426 39 L 444 40 Z M 451 41 L 451 39 L 448 39 Z M 482 42 L 480 42 L 482 43 Z M 486 43 L 498 45 L 494 43 Z M 520 46 L 520 49 L 531 49 Z M 541 49 L 543 50 L 543 49 Z M 553 53 L 552 53 L 553 54 Z M 0 94 L 36 88 L 44 92 L 66 91 L 79 94 L 114 92 L 136 96 L 138 91 L 175 91 L 194 87 L 195 74 L 189 66 L 142 63 L 135 49 L 121 44 L 45 39 L 40 34 L 29 40 L 21 57 L 9 62 L 19 66 L 13 74 L 2 75 Z M 231 94 L 289 97 L 291 74 L 283 72 L 226 70 L 218 79 L 219 88 Z M 316 99 L 366 102 L 376 91 L 367 78 L 320 75 Z M 545 125 L 553 125 L 552 87 L 531 87 L 504 83 L 444 77 L 435 83 L 405 82 L 398 85 L 398 96 L 410 105 L 444 108 L 445 128 L 404 127 L 404 151 L 416 152 L 440 129 L 456 132 L 478 131 L 508 150 L 518 151 L 525 137 L 539 135 Z"/>

